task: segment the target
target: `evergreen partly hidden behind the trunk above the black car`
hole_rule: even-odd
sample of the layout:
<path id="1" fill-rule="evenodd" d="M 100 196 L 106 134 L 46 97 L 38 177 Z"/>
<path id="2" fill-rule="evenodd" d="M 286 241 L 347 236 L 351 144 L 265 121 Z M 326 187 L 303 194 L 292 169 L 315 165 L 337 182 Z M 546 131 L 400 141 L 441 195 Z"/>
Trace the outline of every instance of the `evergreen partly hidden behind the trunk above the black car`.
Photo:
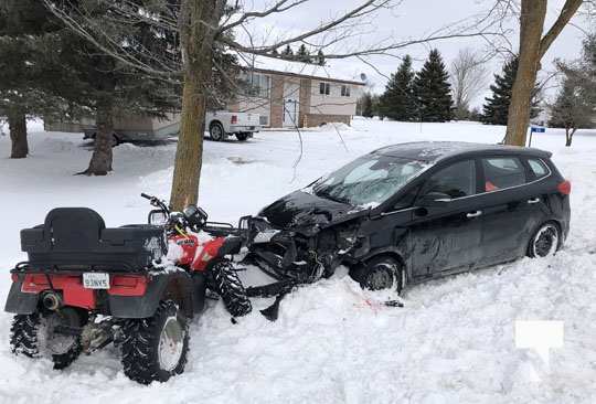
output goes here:
<path id="1" fill-rule="evenodd" d="M 518 73 L 518 59 L 512 57 L 503 64 L 502 73 L 494 75 L 494 84 L 490 86 L 492 96 L 485 98 L 482 107 L 482 123 L 489 125 L 507 125 L 509 104 L 511 103 L 511 89 Z M 534 89 L 530 117 L 539 115 L 539 89 Z"/>

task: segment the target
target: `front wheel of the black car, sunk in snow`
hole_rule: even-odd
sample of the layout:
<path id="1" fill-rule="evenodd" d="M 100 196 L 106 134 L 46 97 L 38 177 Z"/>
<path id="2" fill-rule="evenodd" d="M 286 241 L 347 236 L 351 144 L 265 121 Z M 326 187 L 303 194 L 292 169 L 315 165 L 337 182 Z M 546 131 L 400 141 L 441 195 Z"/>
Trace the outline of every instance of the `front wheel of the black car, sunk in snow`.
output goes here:
<path id="1" fill-rule="evenodd" d="M 394 289 L 398 294 L 402 293 L 403 266 L 397 259 L 391 256 L 383 255 L 374 257 L 350 270 L 350 276 L 363 289 Z"/>

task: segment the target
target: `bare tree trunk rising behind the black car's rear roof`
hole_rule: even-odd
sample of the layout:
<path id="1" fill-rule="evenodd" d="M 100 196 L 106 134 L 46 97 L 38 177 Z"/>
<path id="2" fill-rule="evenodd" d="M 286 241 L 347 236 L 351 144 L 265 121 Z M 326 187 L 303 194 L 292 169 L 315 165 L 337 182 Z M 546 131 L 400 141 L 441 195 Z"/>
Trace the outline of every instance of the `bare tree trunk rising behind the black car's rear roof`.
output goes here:
<path id="1" fill-rule="evenodd" d="M 540 41 L 546 15 L 546 0 L 522 0 L 518 73 L 511 91 L 505 145 L 525 146 L 530 103 L 540 65 Z"/>

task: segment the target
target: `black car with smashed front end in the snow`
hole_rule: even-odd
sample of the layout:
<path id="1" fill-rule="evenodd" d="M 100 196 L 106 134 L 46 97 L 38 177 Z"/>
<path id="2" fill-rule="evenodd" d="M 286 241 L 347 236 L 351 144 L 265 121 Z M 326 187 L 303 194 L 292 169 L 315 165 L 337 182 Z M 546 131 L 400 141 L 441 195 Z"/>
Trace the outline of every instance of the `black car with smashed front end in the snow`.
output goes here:
<path id="1" fill-rule="evenodd" d="M 251 257 L 310 283 L 347 265 L 363 287 L 554 254 L 570 230 L 571 183 L 551 153 L 411 142 L 358 158 L 252 219 Z"/>

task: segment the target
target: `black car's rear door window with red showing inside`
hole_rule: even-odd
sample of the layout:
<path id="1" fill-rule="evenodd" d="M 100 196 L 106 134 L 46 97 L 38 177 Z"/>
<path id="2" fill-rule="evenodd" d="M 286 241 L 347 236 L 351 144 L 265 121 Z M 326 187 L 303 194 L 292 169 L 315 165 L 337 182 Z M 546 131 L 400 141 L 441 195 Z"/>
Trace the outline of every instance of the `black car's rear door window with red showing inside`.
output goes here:
<path id="1" fill-rule="evenodd" d="M 485 192 L 492 192 L 525 183 L 525 170 L 515 157 L 493 157 L 482 159 L 485 169 Z"/>

